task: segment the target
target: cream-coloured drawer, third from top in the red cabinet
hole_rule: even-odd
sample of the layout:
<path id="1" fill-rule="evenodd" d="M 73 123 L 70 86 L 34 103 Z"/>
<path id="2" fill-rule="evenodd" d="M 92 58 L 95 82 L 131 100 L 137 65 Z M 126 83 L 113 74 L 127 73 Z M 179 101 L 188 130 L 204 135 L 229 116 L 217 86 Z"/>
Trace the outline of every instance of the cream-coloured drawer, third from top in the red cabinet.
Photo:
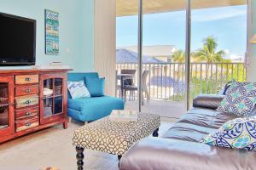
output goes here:
<path id="1" fill-rule="evenodd" d="M 22 96 L 15 98 L 15 107 L 22 108 L 32 105 L 38 105 L 38 95 Z"/>

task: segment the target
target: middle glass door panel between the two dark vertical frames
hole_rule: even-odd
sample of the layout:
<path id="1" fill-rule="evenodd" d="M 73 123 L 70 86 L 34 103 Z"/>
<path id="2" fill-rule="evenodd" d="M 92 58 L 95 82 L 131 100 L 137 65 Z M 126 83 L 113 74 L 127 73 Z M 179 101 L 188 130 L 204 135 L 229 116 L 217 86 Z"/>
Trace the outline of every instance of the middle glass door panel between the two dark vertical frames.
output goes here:
<path id="1" fill-rule="evenodd" d="M 186 0 L 143 1 L 142 111 L 185 111 Z"/>

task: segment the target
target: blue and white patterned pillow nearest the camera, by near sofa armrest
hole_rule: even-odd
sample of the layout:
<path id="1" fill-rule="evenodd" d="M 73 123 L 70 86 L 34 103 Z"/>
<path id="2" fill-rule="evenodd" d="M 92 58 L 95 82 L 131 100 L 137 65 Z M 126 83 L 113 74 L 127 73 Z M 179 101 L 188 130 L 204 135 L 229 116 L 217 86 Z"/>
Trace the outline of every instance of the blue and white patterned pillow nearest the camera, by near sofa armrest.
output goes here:
<path id="1" fill-rule="evenodd" d="M 230 149 L 256 151 L 256 117 L 242 117 L 225 122 L 201 142 Z"/>

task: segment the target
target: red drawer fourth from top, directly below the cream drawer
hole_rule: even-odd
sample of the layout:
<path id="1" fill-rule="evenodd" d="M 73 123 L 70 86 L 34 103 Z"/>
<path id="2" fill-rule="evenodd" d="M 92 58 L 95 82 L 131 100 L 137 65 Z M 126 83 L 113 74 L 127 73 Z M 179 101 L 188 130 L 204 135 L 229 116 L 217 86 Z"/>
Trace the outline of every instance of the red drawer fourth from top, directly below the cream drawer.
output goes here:
<path id="1" fill-rule="evenodd" d="M 29 107 L 27 109 L 16 110 L 15 111 L 15 120 L 25 119 L 27 117 L 38 116 L 39 114 L 38 107 Z"/>

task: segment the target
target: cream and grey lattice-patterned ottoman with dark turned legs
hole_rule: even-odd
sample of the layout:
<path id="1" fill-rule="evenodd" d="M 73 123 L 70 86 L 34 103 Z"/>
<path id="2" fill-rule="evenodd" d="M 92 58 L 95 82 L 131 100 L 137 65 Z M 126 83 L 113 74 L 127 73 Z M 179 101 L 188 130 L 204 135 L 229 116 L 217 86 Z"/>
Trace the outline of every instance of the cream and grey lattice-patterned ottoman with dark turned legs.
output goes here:
<path id="1" fill-rule="evenodd" d="M 78 169 L 83 169 L 84 149 L 98 150 L 120 157 L 140 139 L 158 136 L 160 116 L 139 113 L 137 122 L 112 122 L 109 117 L 77 129 L 73 144 L 77 150 Z"/>

